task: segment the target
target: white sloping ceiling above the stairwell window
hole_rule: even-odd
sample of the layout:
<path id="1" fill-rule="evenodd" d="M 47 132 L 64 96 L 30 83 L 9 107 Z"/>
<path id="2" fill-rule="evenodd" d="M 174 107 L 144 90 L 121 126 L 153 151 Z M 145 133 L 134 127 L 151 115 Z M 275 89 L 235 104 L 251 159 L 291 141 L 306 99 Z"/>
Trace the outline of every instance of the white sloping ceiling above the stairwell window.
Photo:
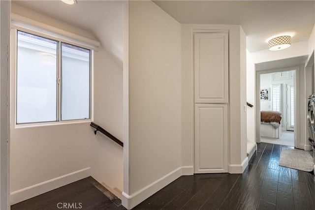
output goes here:
<path id="1" fill-rule="evenodd" d="M 77 0 L 77 2 L 76 5 L 67 5 L 61 0 L 12 0 L 12 10 L 24 7 L 90 32 L 123 67 L 123 15 L 126 1 Z"/>

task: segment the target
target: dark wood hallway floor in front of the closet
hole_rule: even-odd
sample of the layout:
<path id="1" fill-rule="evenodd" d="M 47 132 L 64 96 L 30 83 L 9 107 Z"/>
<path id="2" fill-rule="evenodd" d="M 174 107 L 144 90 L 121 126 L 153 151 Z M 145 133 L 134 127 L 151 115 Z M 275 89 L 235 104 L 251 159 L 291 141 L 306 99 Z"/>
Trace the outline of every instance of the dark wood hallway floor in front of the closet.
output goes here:
<path id="1" fill-rule="evenodd" d="M 282 147 L 259 143 L 243 174 L 183 176 L 134 209 L 315 210 L 314 174 L 279 166 Z"/>

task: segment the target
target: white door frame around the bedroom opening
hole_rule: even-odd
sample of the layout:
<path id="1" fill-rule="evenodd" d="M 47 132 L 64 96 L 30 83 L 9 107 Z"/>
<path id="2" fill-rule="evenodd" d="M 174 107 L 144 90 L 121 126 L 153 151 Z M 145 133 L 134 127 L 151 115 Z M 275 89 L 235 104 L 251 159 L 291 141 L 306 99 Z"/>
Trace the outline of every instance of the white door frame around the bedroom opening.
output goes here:
<path id="1" fill-rule="evenodd" d="M 260 75 L 262 74 L 268 74 L 268 73 L 275 73 L 275 72 L 284 72 L 284 71 L 295 71 L 295 77 L 294 77 L 294 119 L 296 119 L 294 123 L 294 147 L 304 150 L 304 144 L 298 144 L 298 138 L 300 137 L 300 113 L 298 110 L 300 110 L 300 94 L 297 94 L 300 92 L 300 67 L 294 66 L 294 67 L 286 67 L 286 68 L 278 68 L 278 69 L 268 69 L 268 70 L 260 70 L 255 72 L 256 77 L 256 143 L 260 143 Z"/>

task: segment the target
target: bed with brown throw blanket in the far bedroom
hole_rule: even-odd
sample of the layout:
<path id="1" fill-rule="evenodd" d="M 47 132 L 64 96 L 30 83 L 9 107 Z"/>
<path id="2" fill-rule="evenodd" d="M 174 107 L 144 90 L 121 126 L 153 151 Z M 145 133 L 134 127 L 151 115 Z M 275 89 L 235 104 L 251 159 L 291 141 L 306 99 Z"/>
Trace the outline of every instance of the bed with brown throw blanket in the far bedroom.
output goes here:
<path id="1" fill-rule="evenodd" d="M 281 119 L 281 112 L 261 111 L 260 136 L 279 139 L 281 137 Z"/>

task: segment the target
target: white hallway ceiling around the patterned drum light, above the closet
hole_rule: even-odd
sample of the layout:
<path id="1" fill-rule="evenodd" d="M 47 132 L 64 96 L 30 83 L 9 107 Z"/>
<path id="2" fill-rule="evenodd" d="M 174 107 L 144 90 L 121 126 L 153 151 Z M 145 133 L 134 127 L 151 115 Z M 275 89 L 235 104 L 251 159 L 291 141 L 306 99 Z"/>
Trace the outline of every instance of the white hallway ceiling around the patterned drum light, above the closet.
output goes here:
<path id="1" fill-rule="evenodd" d="M 266 39 L 289 32 L 292 43 L 309 39 L 315 22 L 314 0 L 155 0 L 183 24 L 241 25 L 250 52 L 268 49 Z"/>

